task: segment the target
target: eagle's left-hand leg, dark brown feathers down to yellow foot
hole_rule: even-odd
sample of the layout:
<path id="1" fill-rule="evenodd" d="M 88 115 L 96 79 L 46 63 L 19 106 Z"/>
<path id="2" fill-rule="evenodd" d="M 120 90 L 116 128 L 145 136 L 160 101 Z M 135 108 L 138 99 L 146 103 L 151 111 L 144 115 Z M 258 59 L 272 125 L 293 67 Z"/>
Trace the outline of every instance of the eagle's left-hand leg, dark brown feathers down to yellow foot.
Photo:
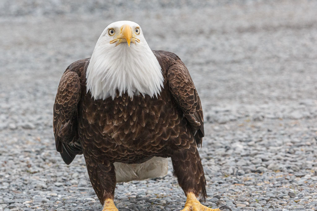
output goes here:
<path id="1" fill-rule="evenodd" d="M 90 163 L 87 158 L 85 160 L 90 182 L 103 205 L 102 211 L 118 211 L 113 202 L 116 187 L 114 165 L 107 160 L 103 160 L 103 163 L 101 161 Z"/>

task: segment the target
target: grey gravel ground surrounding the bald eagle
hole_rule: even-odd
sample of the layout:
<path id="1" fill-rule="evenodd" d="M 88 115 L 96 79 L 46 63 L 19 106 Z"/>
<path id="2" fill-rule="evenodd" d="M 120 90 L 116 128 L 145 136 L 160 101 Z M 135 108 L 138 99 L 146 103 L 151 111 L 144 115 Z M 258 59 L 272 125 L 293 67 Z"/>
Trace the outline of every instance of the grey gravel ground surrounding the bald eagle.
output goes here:
<path id="1" fill-rule="evenodd" d="M 61 75 L 111 22 L 191 72 L 205 113 L 200 155 L 212 208 L 317 210 L 316 1 L 0 3 L 0 210 L 101 210 L 83 156 L 55 151 Z M 119 210 L 180 210 L 172 176 L 118 183 Z"/>

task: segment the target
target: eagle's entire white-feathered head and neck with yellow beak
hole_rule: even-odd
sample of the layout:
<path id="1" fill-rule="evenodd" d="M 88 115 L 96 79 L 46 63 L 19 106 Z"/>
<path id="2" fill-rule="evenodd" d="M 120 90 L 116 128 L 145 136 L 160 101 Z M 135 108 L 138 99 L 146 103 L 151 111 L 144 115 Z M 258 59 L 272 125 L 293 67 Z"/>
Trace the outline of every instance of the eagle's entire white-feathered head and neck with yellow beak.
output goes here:
<path id="1" fill-rule="evenodd" d="M 116 90 L 157 96 L 163 87 L 161 66 L 144 39 L 141 27 L 131 21 L 111 23 L 100 35 L 87 72 L 87 92 L 94 99 L 116 97 Z"/>

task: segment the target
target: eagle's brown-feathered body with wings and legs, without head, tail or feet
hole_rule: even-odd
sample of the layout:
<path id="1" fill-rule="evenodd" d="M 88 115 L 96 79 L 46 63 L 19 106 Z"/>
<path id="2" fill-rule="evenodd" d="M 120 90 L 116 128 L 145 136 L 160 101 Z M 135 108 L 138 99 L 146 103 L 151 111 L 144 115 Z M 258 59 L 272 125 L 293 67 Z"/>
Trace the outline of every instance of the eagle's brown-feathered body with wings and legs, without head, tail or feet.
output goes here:
<path id="1" fill-rule="evenodd" d="M 171 157 L 174 175 L 185 194 L 206 196 L 197 146 L 204 136 L 201 103 L 183 62 L 173 53 L 153 51 L 162 68 L 158 97 L 126 94 L 94 100 L 86 90 L 89 59 L 64 72 L 54 104 L 56 149 L 65 163 L 84 154 L 90 181 L 101 203 L 113 198 L 113 163 L 142 163 Z"/>

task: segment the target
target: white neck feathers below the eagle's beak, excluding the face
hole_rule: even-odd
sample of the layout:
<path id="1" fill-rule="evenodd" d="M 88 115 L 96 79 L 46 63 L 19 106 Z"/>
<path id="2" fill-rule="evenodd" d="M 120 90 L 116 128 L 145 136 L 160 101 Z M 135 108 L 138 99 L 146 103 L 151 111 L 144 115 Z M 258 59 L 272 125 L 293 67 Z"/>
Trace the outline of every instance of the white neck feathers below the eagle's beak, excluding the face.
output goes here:
<path id="1" fill-rule="evenodd" d="M 126 43 L 107 48 L 96 44 L 87 67 L 87 92 L 94 99 L 106 99 L 127 93 L 157 96 L 163 87 L 163 75 L 158 60 L 147 43 Z M 107 44 L 106 44 L 107 45 Z"/>

